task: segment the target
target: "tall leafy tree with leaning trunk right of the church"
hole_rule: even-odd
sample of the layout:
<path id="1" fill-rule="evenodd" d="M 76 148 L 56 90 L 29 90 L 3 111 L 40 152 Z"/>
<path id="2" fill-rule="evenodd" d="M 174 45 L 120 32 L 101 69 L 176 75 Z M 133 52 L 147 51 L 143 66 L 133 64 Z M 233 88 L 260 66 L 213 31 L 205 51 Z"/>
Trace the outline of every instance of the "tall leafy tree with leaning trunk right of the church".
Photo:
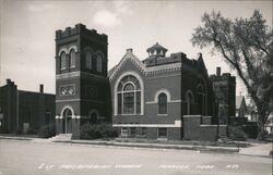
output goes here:
<path id="1" fill-rule="evenodd" d="M 273 30 L 256 10 L 249 18 L 230 20 L 212 11 L 202 16 L 203 26 L 194 28 L 192 45 L 211 48 L 234 68 L 259 114 L 258 139 L 273 111 Z"/>

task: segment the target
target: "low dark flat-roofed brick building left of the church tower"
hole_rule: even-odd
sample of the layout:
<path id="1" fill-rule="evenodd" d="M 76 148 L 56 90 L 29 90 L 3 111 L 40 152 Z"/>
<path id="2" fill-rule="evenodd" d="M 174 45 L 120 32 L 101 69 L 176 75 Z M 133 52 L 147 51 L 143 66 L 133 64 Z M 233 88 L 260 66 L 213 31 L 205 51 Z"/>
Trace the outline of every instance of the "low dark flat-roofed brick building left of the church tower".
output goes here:
<path id="1" fill-rule="evenodd" d="M 39 130 L 55 121 L 55 95 L 19 90 L 11 79 L 0 87 L 1 133 Z"/>

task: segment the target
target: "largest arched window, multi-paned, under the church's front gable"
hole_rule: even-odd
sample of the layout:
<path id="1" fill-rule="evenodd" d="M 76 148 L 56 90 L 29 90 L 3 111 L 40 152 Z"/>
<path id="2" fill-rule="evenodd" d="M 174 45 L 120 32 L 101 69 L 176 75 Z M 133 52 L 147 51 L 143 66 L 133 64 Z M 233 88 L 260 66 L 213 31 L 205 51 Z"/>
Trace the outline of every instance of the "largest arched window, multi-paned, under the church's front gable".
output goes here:
<path id="1" fill-rule="evenodd" d="M 118 114 L 141 113 L 141 87 L 134 76 L 124 76 L 118 84 L 117 93 Z"/>

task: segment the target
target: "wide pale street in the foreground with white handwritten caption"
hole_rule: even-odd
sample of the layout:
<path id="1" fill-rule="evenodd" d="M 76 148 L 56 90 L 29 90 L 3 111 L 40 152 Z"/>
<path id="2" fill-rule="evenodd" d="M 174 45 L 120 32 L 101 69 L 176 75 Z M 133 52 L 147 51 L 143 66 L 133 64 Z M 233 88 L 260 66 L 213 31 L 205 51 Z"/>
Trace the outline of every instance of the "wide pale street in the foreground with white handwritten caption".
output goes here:
<path id="1" fill-rule="evenodd" d="M 272 160 L 192 150 L 0 139 L 0 175 L 271 175 Z"/>

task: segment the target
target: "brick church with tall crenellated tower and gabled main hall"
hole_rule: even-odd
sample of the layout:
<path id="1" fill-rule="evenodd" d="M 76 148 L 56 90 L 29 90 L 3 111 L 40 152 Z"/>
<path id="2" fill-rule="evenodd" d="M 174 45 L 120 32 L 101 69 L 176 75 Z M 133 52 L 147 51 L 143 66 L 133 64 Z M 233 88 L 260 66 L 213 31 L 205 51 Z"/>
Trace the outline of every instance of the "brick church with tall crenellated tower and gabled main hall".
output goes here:
<path id="1" fill-rule="evenodd" d="M 111 122 L 121 137 L 180 140 L 186 117 L 213 125 L 218 101 L 201 53 L 168 55 L 155 43 L 142 60 L 128 49 L 108 72 L 107 47 L 106 35 L 82 24 L 56 32 L 57 134 L 79 138 L 82 124 Z"/>

